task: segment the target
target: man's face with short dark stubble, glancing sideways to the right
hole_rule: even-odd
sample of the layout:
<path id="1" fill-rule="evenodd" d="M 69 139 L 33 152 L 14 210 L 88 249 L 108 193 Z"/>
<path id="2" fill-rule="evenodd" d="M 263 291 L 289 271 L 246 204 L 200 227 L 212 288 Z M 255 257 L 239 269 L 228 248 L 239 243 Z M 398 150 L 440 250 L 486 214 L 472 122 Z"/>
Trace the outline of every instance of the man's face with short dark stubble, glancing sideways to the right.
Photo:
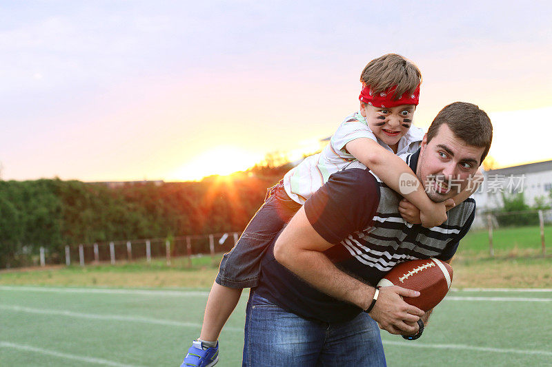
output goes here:
<path id="1" fill-rule="evenodd" d="M 429 198 L 442 202 L 453 198 L 471 182 L 480 166 L 484 147 L 466 145 L 443 124 L 430 143 L 422 140 L 416 174 Z"/>

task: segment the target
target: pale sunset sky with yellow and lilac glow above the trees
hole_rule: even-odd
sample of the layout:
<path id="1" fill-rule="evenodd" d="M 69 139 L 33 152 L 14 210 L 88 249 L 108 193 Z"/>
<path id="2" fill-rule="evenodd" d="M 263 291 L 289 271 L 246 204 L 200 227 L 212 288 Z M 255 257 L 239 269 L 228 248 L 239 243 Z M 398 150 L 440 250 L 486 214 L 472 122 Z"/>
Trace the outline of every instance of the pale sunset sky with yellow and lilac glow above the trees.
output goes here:
<path id="1" fill-rule="evenodd" d="M 415 125 L 479 105 L 501 167 L 551 160 L 549 1 L 2 1 L 4 180 L 192 180 L 319 147 L 371 59 L 422 70 Z"/>

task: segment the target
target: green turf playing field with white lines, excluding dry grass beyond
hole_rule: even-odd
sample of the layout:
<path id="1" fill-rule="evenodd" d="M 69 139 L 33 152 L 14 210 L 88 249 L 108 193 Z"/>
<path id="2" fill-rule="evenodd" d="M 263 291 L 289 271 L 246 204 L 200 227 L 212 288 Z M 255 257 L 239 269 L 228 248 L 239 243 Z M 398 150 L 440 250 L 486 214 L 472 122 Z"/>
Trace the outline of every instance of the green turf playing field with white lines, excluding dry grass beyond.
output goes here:
<path id="1" fill-rule="evenodd" d="M 0 286 L 2 366 L 179 366 L 207 289 Z M 240 366 L 242 297 L 219 366 Z M 550 366 L 552 291 L 453 291 L 422 339 L 383 332 L 389 366 Z"/>

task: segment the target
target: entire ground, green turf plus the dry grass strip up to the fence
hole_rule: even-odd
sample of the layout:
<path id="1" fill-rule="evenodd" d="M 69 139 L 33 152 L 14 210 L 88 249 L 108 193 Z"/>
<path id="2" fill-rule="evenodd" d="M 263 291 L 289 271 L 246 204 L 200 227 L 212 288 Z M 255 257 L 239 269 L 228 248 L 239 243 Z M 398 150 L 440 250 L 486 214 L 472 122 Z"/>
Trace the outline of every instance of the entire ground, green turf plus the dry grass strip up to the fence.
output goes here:
<path id="1" fill-rule="evenodd" d="M 422 339 L 382 333 L 389 366 L 552 366 L 552 256 L 540 253 L 538 227 L 494 234 L 494 258 L 486 231 L 466 235 L 453 262 L 463 290 L 449 292 Z M 179 366 L 219 260 L 1 271 L 0 366 Z M 246 297 L 217 366 L 241 365 Z"/>

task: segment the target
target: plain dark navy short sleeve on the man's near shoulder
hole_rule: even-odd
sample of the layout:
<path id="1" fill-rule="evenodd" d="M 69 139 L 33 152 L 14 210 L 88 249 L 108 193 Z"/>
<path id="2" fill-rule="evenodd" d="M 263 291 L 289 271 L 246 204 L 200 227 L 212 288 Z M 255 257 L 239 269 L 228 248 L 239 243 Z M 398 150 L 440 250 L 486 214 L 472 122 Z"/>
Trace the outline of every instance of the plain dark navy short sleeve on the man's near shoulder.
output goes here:
<path id="1" fill-rule="evenodd" d="M 305 213 L 324 240 L 338 244 L 372 223 L 380 187 L 368 169 L 352 168 L 330 176 L 305 202 Z"/>

